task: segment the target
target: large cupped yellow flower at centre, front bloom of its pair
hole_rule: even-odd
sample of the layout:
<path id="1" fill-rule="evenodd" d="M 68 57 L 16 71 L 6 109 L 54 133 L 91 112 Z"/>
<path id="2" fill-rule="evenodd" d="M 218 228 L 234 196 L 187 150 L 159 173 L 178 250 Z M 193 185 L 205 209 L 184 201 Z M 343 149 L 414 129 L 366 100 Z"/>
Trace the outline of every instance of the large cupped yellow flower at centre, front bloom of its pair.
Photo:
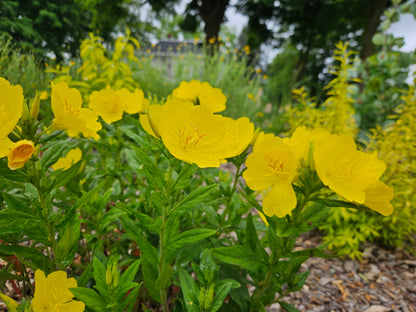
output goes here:
<path id="1" fill-rule="evenodd" d="M 160 114 L 159 132 L 166 148 L 200 168 L 224 162 L 226 129 L 225 117 L 179 99 L 168 100 Z"/>

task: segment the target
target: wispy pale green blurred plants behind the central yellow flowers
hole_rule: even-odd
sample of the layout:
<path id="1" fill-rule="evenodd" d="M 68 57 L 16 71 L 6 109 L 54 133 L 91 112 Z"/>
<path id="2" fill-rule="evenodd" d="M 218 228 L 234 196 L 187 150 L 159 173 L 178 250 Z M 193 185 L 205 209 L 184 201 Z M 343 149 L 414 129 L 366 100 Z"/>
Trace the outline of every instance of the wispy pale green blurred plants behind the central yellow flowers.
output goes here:
<path id="1" fill-rule="evenodd" d="M 239 51 L 227 41 L 213 55 L 207 54 L 197 41 L 184 43 L 180 49 L 187 52 L 141 51 L 142 58 L 138 68 L 133 68 L 133 78 L 146 94 L 166 98 L 183 80 L 207 81 L 227 96 L 224 115 L 255 117 L 261 108 L 263 75 L 249 64 L 248 51 Z"/>

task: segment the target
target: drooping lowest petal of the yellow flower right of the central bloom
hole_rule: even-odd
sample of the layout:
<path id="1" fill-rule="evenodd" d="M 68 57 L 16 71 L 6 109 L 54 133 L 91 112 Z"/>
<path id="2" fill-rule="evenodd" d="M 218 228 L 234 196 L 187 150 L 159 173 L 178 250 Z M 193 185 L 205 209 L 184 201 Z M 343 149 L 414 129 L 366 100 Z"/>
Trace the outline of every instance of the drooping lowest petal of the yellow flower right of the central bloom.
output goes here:
<path id="1" fill-rule="evenodd" d="M 272 187 L 264 197 L 263 211 L 271 217 L 273 215 L 283 218 L 296 208 L 296 194 L 292 184 L 280 182 Z"/>

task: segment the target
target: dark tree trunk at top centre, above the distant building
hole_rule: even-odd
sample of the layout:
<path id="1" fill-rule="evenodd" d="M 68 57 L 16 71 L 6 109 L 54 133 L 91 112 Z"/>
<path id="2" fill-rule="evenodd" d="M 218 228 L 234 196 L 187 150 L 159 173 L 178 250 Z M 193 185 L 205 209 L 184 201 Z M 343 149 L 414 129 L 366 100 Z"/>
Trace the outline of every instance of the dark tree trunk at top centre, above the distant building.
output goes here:
<path id="1" fill-rule="evenodd" d="M 204 21 L 205 42 L 211 53 L 218 46 L 218 34 L 229 3 L 230 0 L 203 0 L 199 7 L 199 15 Z"/>

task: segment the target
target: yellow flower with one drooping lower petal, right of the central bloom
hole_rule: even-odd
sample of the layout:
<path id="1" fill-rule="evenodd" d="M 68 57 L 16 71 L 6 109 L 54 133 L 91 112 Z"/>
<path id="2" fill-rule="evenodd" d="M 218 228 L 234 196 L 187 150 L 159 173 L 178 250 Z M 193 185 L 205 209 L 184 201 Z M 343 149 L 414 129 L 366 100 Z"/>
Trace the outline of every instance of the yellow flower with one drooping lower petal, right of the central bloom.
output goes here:
<path id="1" fill-rule="evenodd" d="M 284 217 L 296 207 L 292 182 L 296 176 L 297 161 L 291 148 L 273 134 L 260 133 L 253 152 L 246 160 L 243 177 L 254 191 L 271 188 L 263 200 L 267 216 Z"/>

